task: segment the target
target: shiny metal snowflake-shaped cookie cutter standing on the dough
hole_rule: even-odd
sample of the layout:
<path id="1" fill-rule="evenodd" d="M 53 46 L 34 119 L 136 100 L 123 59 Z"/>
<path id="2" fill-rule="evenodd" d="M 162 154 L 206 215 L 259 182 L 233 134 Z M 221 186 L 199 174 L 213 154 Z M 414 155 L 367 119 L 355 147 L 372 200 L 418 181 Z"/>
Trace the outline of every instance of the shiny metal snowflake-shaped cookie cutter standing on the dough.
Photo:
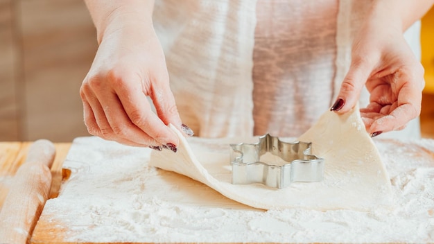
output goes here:
<path id="1" fill-rule="evenodd" d="M 280 141 L 265 134 L 257 143 L 230 144 L 232 184 L 262 183 L 279 189 L 292 182 L 320 182 L 324 177 L 324 159 L 311 155 L 312 143 Z M 260 162 L 271 153 L 288 164 L 276 166 Z"/>

